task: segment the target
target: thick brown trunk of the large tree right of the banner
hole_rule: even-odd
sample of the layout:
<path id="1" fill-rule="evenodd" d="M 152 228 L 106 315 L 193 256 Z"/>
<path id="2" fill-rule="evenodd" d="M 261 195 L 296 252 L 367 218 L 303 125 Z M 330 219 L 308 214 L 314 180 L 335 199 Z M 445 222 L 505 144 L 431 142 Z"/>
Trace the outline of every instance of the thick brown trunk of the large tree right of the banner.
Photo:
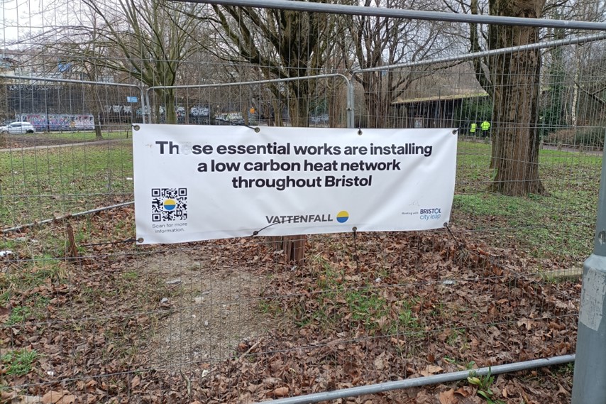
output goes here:
<path id="1" fill-rule="evenodd" d="M 492 0 L 491 14 L 501 16 L 540 16 L 544 0 Z M 495 11 L 497 11 L 495 13 Z M 527 26 L 499 26 L 492 30 L 495 48 L 527 45 L 539 40 L 539 31 Z M 492 190 L 519 196 L 544 193 L 539 180 L 539 131 L 536 114 L 539 104 L 541 53 L 526 50 L 498 55 L 491 60 L 495 77 L 492 111 L 492 165 L 497 175 Z"/>

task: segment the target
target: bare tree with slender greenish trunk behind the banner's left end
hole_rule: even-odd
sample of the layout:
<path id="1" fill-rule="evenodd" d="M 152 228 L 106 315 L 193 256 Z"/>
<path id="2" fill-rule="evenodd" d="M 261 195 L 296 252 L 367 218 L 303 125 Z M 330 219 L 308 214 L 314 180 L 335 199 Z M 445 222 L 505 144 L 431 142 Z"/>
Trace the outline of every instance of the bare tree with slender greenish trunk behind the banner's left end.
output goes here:
<path id="1" fill-rule="evenodd" d="M 202 6 L 164 0 L 82 2 L 89 9 L 87 20 L 70 23 L 54 41 L 60 58 L 81 62 L 92 80 L 95 72 L 110 70 L 149 87 L 175 85 L 182 62 L 196 50 L 189 33 L 202 23 L 194 17 Z M 166 121 L 176 122 L 174 89 L 154 92 L 158 105 L 165 106 Z"/>

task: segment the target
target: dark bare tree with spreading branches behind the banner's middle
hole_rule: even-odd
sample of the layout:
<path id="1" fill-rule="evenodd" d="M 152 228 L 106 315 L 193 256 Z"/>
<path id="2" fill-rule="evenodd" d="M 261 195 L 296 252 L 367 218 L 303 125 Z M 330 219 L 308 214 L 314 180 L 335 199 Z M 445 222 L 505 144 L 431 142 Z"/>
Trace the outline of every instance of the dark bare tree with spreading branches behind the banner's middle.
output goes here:
<path id="1" fill-rule="evenodd" d="M 324 67 L 334 42 L 336 18 L 325 13 L 213 6 L 209 18 L 219 36 L 214 53 L 223 60 L 256 66 L 265 79 L 316 75 Z M 280 92 L 286 90 L 285 94 Z M 287 99 L 293 126 L 309 125 L 307 80 L 272 86 L 278 99 Z"/>

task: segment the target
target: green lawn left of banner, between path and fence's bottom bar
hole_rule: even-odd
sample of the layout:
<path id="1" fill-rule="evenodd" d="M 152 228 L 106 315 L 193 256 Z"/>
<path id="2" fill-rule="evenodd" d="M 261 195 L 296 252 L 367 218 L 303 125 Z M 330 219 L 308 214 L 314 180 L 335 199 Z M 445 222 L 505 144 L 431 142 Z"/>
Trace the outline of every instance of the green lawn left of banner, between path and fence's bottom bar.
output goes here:
<path id="1" fill-rule="evenodd" d="M 17 226 L 132 200 L 128 142 L 0 153 L 0 223 Z"/>

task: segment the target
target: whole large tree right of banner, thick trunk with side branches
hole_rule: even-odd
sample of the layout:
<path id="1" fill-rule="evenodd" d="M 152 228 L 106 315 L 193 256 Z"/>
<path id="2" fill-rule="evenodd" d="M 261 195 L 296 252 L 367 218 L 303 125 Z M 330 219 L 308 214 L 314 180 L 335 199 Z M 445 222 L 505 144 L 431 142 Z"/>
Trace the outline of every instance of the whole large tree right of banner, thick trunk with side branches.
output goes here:
<path id="1" fill-rule="evenodd" d="M 451 11 L 493 16 L 601 21 L 604 4 L 600 0 L 444 0 Z M 491 25 L 487 30 L 469 24 L 470 52 L 494 50 L 539 42 L 544 38 L 563 38 L 570 32 L 522 26 Z M 582 45 L 578 45 L 582 46 Z M 556 55 L 556 58 L 560 56 Z M 553 55 L 551 55 L 553 59 Z M 475 77 L 492 98 L 492 158 L 490 165 L 497 175 L 492 189 L 505 195 L 543 193 L 539 178 L 539 99 L 541 53 L 525 50 L 475 58 Z M 571 63 L 575 65 L 575 63 Z M 555 68 L 554 66 L 553 68 Z M 551 69 L 553 72 L 553 68 Z M 578 70 L 578 69 L 577 69 Z M 558 70 L 558 74 L 562 74 Z M 574 90 L 576 105 L 578 89 Z M 560 97 L 556 97 L 558 100 Z M 572 107 L 571 121 L 575 121 Z"/>

